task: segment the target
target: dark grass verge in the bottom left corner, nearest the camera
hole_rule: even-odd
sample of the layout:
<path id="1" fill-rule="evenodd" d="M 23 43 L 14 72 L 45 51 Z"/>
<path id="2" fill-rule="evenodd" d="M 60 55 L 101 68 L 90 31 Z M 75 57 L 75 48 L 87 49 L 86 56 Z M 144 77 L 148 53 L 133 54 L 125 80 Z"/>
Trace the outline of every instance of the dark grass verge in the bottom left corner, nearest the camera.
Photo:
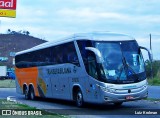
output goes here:
<path id="1" fill-rule="evenodd" d="M 4 100 L 4 99 L 0 99 L 0 113 L 1 113 L 1 110 L 14 110 L 14 111 L 23 111 L 23 112 L 26 112 L 28 114 L 28 111 L 41 111 L 42 115 L 13 115 L 12 116 L 5 116 L 5 117 L 8 117 L 8 118 L 17 118 L 17 117 L 23 117 L 23 118 L 64 118 L 64 116 L 62 115 L 58 115 L 58 114 L 55 114 L 55 113 L 50 113 L 50 112 L 47 112 L 47 111 L 44 111 L 44 110 L 39 110 L 39 109 L 36 109 L 35 107 L 30 107 L 28 105 L 25 105 L 25 104 L 22 104 L 22 103 L 18 103 L 18 102 L 11 102 L 11 101 L 7 101 L 7 100 Z M 12 111 L 13 113 L 13 111 Z M 3 118 L 4 116 L 1 116 L 0 115 L 0 118 Z"/>

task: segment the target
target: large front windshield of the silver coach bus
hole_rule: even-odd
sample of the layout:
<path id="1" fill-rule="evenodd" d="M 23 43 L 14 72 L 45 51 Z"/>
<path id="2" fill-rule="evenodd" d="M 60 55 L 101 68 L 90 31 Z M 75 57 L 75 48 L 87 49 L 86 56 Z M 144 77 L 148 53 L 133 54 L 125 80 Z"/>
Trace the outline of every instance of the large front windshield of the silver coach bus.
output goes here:
<path id="1" fill-rule="evenodd" d="M 146 78 L 144 61 L 136 41 L 95 42 L 103 61 L 99 79 L 107 83 L 135 83 Z"/>

